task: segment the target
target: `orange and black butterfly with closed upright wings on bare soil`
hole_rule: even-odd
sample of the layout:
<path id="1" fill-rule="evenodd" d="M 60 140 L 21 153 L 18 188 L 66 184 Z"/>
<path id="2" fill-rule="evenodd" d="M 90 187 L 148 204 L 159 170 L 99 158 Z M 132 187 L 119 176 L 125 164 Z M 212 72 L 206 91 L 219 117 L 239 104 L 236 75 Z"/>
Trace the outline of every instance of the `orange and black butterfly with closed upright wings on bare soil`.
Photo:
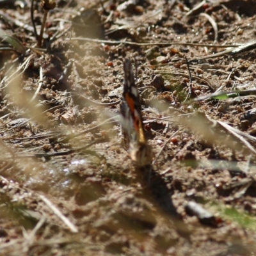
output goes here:
<path id="1" fill-rule="evenodd" d="M 141 102 L 134 81 L 131 60 L 124 60 L 124 92 L 120 103 L 124 147 L 138 166 L 152 162 L 152 147 L 148 145 L 141 116 Z"/>

